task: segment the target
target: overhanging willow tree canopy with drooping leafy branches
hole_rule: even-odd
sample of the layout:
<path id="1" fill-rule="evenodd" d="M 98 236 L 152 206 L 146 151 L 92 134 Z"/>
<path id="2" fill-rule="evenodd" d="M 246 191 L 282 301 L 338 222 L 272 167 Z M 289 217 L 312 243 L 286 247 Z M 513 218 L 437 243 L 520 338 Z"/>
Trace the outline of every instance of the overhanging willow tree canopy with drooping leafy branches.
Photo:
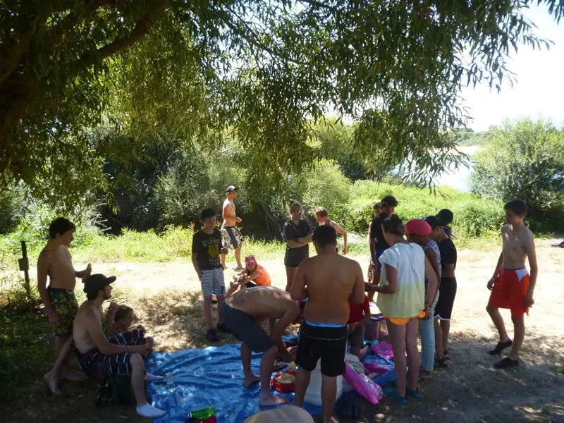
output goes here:
<path id="1" fill-rule="evenodd" d="M 564 6 L 548 5 L 557 20 Z M 108 188 L 144 137 L 171 133 L 250 154 L 253 178 L 317 156 L 311 121 L 353 118 L 374 168 L 407 159 L 428 180 L 465 124 L 460 90 L 510 80 L 507 58 L 541 47 L 527 0 L 4 0 L 0 4 L 1 186 L 52 202 Z M 102 123 L 130 142 L 92 145 Z M 103 143 L 102 143 L 103 144 Z M 111 151 L 108 151 L 111 150 Z"/>

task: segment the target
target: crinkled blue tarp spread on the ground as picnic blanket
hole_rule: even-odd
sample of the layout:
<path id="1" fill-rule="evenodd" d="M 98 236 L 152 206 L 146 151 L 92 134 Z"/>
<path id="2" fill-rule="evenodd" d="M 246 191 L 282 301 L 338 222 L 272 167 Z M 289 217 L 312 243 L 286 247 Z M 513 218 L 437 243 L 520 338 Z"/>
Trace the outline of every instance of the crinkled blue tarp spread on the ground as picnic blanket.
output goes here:
<path id="1" fill-rule="evenodd" d="M 251 366 L 256 374 L 259 373 L 261 357 L 262 354 L 252 355 Z M 378 360 L 375 355 L 367 358 Z M 188 412 L 210 406 L 216 409 L 217 422 L 240 423 L 259 411 L 271 408 L 259 407 L 259 383 L 249 389 L 243 387 L 240 344 L 177 353 L 152 353 L 147 360 L 147 372 L 161 376 L 170 372 L 175 384 L 172 392 L 164 382 L 149 384 L 152 404 L 167 411 L 164 417 L 155 419 L 157 423 L 184 422 Z M 374 381 L 382 383 L 390 377 L 390 374 L 382 375 Z M 289 403 L 293 402 L 293 393 L 276 395 L 285 396 L 289 398 Z M 312 415 L 321 414 L 321 407 L 307 403 L 305 410 Z"/>

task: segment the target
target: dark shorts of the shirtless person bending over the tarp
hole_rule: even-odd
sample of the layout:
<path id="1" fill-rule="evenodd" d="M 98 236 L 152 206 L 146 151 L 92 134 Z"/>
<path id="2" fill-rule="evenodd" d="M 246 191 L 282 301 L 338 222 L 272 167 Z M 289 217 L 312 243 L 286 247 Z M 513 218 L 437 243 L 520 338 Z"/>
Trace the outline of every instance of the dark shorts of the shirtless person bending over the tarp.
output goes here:
<path id="1" fill-rule="evenodd" d="M 255 317 L 239 309 L 227 305 L 225 302 L 219 308 L 219 319 L 239 341 L 245 343 L 253 352 L 264 353 L 274 347 L 270 336 L 257 325 Z"/>

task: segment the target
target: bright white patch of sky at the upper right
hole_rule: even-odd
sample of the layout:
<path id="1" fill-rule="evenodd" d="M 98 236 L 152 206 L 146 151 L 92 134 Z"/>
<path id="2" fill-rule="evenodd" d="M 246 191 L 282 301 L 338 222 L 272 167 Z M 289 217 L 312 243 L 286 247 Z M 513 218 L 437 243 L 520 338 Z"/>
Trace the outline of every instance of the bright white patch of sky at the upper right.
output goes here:
<path id="1" fill-rule="evenodd" d="M 473 130 L 487 130 L 491 125 L 501 125 L 505 118 L 548 118 L 557 126 L 564 126 L 564 19 L 558 25 L 544 6 L 532 6 L 527 18 L 537 25 L 535 34 L 551 39 L 555 44 L 550 50 L 539 51 L 520 46 L 510 54 L 508 67 L 516 75 L 511 87 L 476 85 L 462 90 L 461 104 L 469 107 Z"/>

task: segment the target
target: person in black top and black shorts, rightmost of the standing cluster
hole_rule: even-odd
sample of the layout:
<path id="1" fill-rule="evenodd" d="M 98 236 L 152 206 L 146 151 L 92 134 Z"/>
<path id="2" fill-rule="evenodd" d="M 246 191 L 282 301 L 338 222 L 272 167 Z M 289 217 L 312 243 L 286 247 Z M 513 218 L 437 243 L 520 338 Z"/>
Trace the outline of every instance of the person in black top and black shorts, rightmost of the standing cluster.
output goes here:
<path id="1" fill-rule="evenodd" d="M 456 247 L 453 240 L 448 238 L 441 227 L 441 222 L 435 216 L 427 216 L 425 221 L 429 223 L 432 240 L 439 245 L 441 253 L 441 295 L 435 307 L 435 355 L 436 367 L 446 367 L 448 360 L 448 333 L 450 332 L 450 316 L 453 312 L 454 299 L 456 296 Z"/>

